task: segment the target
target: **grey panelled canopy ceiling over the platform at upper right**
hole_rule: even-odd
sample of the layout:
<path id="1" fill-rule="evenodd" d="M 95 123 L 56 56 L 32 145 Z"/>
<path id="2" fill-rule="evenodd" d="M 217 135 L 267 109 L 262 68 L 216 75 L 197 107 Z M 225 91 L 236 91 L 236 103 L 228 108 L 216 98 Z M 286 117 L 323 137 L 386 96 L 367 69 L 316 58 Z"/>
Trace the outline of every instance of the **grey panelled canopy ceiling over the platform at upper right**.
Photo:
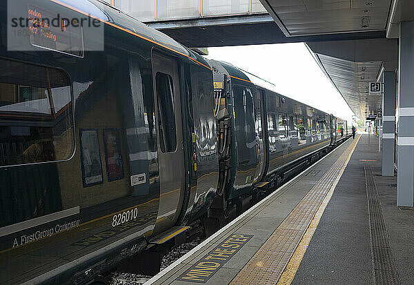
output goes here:
<path id="1" fill-rule="evenodd" d="M 315 59 L 359 119 L 382 112 L 382 96 L 370 96 L 369 83 L 397 69 L 399 23 L 414 20 L 414 1 L 260 1 L 287 39 L 310 39 Z M 326 35 L 355 38 L 324 41 Z"/>

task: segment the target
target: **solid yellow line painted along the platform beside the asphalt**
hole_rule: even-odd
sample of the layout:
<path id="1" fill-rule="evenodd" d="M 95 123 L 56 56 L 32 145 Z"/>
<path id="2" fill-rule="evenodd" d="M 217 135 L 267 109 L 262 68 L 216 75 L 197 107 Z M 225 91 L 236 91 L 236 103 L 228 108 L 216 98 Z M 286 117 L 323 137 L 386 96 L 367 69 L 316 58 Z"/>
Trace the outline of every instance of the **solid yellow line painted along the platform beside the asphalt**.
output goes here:
<path id="1" fill-rule="evenodd" d="M 351 159 L 351 156 L 353 155 L 354 150 L 357 147 L 357 144 L 360 138 L 361 138 L 361 135 L 359 135 L 357 139 L 353 141 L 354 146 L 351 150 L 351 153 L 349 153 L 348 158 L 346 159 L 344 165 L 339 171 L 339 175 L 336 177 L 335 181 L 333 182 L 331 186 L 331 189 L 326 194 L 324 201 L 319 206 L 315 214 L 315 217 L 313 217 L 313 220 L 311 224 L 309 225 L 308 229 L 306 230 L 304 236 L 302 237 L 301 242 L 297 246 L 295 253 L 293 253 L 293 256 L 290 258 L 290 261 L 288 262 L 288 265 L 286 266 L 284 272 L 282 273 L 282 276 L 279 278 L 279 282 L 277 282 L 277 285 L 290 285 L 290 283 L 293 282 L 293 278 L 295 277 L 297 269 L 299 268 L 299 265 L 302 262 L 302 258 L 304 257 L 306 250 L 308 249 L 308 246 L 311 243 L 311 239 L 313 237 L 313 234 L 315 233 L 315 230 L 317 228 L 317 225 L 319 224 L 319 221 L 321 220 L 322 214 L 324 213 L 326 206 L 328 206 L 328 203 L 331 200 L 331 197 L 333 195 L 333 191 L 335 190 L 339 182 L 339 179 L 341 179 L 342 175 L 344 174 L 345 168 L 348 165 L 348 162 Z"/>

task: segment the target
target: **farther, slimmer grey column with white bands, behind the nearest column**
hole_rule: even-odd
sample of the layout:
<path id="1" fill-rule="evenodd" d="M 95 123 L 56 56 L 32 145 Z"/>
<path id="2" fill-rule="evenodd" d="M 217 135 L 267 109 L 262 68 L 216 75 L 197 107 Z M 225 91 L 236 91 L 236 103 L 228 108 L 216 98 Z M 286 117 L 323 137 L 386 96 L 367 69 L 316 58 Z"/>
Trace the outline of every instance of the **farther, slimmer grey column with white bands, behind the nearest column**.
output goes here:
<path id="1" fill-rule="evenodd" d="M 382 176 L 394 176 L 395 72 L 384 72 L 382 99 Z"/>

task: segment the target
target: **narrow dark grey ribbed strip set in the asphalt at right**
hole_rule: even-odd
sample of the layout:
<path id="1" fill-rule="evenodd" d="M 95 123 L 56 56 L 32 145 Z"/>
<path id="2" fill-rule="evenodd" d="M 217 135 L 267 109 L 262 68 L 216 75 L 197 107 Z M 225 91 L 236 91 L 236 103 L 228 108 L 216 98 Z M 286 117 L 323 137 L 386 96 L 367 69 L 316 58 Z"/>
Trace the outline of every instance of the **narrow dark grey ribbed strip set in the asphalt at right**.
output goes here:
<path id="1" fill-rule="evenodd" d="M 375 284 L 400 284 L 371 166 L 364 166 Z"/>

